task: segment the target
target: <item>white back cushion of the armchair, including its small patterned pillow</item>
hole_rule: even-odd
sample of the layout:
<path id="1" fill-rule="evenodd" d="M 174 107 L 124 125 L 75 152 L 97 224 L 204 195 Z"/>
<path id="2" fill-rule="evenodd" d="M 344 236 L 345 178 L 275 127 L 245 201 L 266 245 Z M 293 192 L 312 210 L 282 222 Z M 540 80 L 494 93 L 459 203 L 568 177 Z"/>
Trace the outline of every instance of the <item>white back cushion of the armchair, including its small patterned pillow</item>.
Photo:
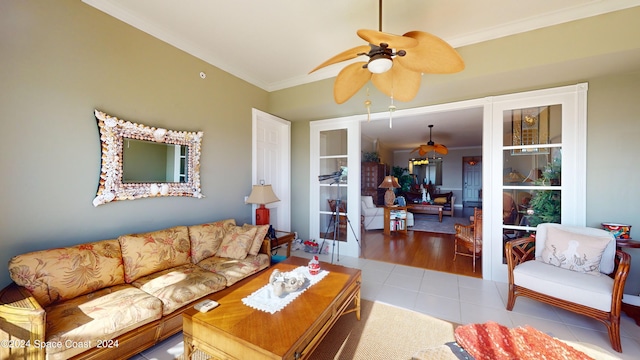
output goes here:
<path id="1" fill-rule="evenodd" d="M 613 236 L 601 229 L 541 224 L 536 233 L 536 259 L 591 275 L 600 275 L 603 270 L 611 273 L 615 247 L 605 253 L 611 245 L 615 246 Z M 607 264 L 601 266 L 604 256 Z"/>

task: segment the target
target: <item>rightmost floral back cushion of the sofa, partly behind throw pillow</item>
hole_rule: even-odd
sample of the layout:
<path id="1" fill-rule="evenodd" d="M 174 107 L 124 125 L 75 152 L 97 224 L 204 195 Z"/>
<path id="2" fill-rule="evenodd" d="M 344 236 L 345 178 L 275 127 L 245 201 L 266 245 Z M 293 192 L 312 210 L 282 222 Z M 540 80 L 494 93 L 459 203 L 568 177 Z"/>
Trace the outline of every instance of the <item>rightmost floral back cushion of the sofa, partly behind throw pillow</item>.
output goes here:
<path id="1" fill-rule="evenodd" d="M 197 264 L 202 259 L 215 255 L 222 244 L 224 234 L 234 226 L 236 226 L 234 219 L 189 226 L 191 262 Z"/>

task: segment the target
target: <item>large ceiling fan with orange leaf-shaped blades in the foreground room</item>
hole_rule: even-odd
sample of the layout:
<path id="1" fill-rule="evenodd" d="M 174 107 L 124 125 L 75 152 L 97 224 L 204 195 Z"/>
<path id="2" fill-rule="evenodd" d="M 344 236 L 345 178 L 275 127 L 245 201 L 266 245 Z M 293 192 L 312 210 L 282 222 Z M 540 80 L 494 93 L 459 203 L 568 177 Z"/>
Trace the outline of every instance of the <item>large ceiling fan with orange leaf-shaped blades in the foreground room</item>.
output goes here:
<path id="1" fill-rule="evenodd" d="M 382 32 L 382 0 L 378 6 L 378 30 L 357 31 L 369 45 L 345 50 L 309 72 L 361 55 L 369 57 L 369 61 L 349 64 L 340 71 L 333 86 L 336 103 L 349 100 L 369 79 L 392 99 L 411 101 L 420 89 L 423 73 L 451 74 L 464 69 L 460 54 L 435 35 L 424 31 L 410 31 L 402 36 Z"/>

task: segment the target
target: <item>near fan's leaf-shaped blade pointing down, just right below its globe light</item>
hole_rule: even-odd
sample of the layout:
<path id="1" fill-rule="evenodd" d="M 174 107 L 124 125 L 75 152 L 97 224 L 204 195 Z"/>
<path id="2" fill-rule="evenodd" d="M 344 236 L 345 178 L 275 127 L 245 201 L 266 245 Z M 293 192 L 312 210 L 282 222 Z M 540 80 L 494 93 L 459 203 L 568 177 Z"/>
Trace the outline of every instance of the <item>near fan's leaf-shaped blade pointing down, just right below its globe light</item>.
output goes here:
<path id="1" fill-rule="evenodd" d="M 378 90 L 398 101 L 411 101 L 420 90 L 419 72 L 414 72 L 393 60 L 391 70 L 382 74 L 373 74 L 371 81 Z"/>

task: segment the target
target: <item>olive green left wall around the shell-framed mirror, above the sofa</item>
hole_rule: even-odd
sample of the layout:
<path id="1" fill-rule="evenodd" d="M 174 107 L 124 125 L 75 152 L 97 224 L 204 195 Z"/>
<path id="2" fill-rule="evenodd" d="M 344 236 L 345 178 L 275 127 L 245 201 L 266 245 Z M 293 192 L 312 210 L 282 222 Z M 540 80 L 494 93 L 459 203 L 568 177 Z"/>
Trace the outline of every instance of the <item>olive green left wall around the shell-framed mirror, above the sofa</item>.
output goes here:
<path id="1" fill-rule="evenodd" d="M 243 202 L 251 190 L 251 108 L 267 109 L 265 91 L 78 0 L 0 2 L 0 86 L 0 264 L 27 251 L 131 232 L 251 221 Z M 206 197 L 94 208 L 96 108 L 150 126 L 203 131 Z M 0 271 L 0 286 L 9 281 Z"/>

